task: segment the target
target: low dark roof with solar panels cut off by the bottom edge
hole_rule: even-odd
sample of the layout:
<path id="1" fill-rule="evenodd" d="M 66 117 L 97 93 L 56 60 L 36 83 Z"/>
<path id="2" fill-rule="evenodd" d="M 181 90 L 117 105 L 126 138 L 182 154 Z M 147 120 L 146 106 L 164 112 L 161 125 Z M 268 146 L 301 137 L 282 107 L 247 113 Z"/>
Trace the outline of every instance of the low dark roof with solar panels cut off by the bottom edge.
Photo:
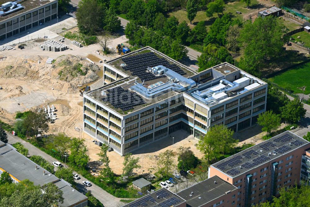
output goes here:
<path id="1" fill-rule="evenodd" d="M 132 201 L 131 203 L 124 205 L 124 207 L 177 207 L 184 202 L 186 201 L 180 198 L 178 195 L 171 193 L 166 188 L 162 188 L 149 195 L 145 195 L 135 201 Z"/>

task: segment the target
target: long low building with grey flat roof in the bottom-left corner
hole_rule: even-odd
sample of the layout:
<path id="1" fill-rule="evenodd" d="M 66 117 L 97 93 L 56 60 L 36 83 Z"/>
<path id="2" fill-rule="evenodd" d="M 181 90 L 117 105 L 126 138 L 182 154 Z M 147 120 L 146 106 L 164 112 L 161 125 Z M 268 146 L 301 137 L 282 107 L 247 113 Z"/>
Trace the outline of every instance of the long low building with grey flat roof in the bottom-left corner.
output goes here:
<path id="1" fill-rule="evenodd" d="M 69 186 L 68 182 L 57 178 L 46 169 L 17 152 L 11 145 L 0 141 L 0 174 L 4 171 L 10 174 L 15 183 L 25 179 L 33 182 L 34 185 L 40 186 L 49 182 L 54 183 L 63 192 L 64 203 L 59 204 L 59 206 L 87 206 L 87 197 Z"/>

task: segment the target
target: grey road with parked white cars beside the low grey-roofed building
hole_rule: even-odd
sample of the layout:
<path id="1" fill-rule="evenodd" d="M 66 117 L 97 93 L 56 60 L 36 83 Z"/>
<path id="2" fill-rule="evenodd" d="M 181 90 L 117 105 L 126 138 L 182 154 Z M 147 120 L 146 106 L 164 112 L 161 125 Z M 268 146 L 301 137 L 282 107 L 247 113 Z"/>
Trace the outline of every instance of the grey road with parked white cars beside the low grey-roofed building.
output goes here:
<path id="1" fill-rule="evenodd" d="M 29 155 L 40 155 L 41 157 L 43 157 L 44 159 L 46 159 L 47 161 L 49 161 L 50 163 L 53 163 L 54 161 L 57 161 L 55 158 L 51 157 L 50 155 L 46 154 L 45 152 L 39 150 L 38 148 L 36 148 L 35 146 L 31 145 L 29 142 L 26 142 L 22 139 L 20 139 L 17 136 L 12 136 L 11 134 L 7 134 L 8 135 L 8 142 L 10 144 L 14 144 L 16 142 L 21 142 L 28 150 L 29 150 Z M 64 165 L 64 163 L 63 163 Z M 68 167 L 68 165 L 67 165 Z M 55 167 L 55 171 L 57 170 L 57 168 Z M 75 172 L 76 173 L 76 172 Z M 93 196 L 95 196 L 104 206 L 107 207 L 116 207 L 117 203 L 119 202 L 120 198 L 114 197 L 113 195 L 109 194 L 108 192 L 104 191 L 102 188 L 100 188 L 99 186 L 95 185 L 94 183 L 91 182 L 91 186 L 90 187 L 86 187 L 82 184 L 83 181 L 87 181 L 85 177 L 81 176 L 80 174 L 78 174 L 81 179 L 76 180 L 76 182 L 78 183 L 78 188 L 82 189 L 83 191 L 88 191 L 90 190 L 91 193 L 93 194 Z"/>

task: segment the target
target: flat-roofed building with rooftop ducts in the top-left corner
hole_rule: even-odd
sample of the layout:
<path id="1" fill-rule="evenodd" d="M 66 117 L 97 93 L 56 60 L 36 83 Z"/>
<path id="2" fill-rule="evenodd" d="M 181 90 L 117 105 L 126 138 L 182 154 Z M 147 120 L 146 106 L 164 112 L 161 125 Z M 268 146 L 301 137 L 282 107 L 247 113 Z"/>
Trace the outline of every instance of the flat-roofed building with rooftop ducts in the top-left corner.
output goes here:
<path id="1" fill-rule="evenodd" d="M 34 26 L 57 18 L 58 0 L 0 0 L 0 39 L 26 33 Z"/>

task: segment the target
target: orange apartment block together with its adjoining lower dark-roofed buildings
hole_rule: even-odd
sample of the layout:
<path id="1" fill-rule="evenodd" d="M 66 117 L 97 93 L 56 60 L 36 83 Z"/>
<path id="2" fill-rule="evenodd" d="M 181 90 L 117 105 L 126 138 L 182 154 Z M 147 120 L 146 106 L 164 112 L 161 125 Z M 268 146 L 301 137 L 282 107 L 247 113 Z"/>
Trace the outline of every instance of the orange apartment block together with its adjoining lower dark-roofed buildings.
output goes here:
<path id="1" fill-rule="evenodd" d="M 285 131 L 212 164 L 208 179 L 202 182 L 176 193 L 163 188 L 124 207 L 254 206 L 279 196 L 280 187 L 290 187 L 301 180 L 309 182 L 305 175 L 310 172 L 309 156 L 310 142 Z M 176 199 L 170 200 L 172 197 Z"/>

